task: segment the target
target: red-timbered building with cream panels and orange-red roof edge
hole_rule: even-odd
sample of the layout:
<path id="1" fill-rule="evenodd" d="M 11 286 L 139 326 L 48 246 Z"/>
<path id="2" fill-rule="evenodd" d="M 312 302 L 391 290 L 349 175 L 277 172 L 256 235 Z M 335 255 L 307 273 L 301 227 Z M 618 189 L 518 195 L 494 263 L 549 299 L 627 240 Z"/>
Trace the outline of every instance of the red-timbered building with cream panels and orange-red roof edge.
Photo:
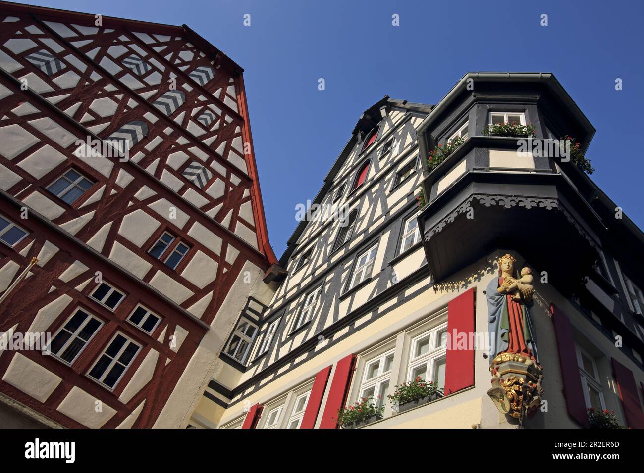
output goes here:
<path id="1" fill-rule="evenodd" d="M 0 24 L 0 333 L 52 337 L 0 351 L 3 416 L 180 427 L 276 263 L 242 69 L 187 26 Z"/>

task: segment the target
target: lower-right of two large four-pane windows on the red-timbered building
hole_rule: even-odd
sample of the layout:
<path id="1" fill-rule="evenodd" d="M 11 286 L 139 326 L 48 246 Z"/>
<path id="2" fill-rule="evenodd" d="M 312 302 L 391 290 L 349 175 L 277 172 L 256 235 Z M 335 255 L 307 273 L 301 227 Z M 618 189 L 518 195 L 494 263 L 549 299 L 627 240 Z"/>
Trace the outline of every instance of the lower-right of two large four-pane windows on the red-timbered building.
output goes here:
<path id="1" fill-rule="evenodd" d="M 117 333 L 90 369 L 90 377 L 113 389 L 140 349 L 139 344 Z"/>

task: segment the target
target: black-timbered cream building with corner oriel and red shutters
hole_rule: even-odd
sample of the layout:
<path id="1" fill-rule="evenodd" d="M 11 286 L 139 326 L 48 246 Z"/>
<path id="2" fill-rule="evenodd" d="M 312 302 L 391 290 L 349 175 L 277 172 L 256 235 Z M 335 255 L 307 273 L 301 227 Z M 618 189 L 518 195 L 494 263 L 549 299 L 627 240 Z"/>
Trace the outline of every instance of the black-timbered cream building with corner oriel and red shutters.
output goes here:
<path id="1" fill-rule="evenodd" d="M 586 174 L 594 131 L 549 73 L 468 73 L 436 106 L 379 100 L 190 424 L 584 427 L 591 408 L 644 427 L 644 238 Z M 495 339 L 512 268 L 527 292 L 503 295 L 520 312 Z M 441 393 L 390 402 L 419 380 Z M 343 422 L 365 400 L 376 415 Z"/>

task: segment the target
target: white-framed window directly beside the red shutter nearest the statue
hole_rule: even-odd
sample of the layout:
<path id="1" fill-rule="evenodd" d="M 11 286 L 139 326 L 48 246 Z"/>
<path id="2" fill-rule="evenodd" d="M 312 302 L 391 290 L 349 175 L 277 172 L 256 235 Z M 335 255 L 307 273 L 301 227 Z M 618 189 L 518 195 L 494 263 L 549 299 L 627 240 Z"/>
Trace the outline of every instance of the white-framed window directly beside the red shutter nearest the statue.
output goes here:
<path id="1" fill-rule="evenodd" d="M 445 387 L 445 357 L 447 353 L 447 326 L 431 329 L 412 340 L 412 353 L 407 380 L 418 376 Z"/>

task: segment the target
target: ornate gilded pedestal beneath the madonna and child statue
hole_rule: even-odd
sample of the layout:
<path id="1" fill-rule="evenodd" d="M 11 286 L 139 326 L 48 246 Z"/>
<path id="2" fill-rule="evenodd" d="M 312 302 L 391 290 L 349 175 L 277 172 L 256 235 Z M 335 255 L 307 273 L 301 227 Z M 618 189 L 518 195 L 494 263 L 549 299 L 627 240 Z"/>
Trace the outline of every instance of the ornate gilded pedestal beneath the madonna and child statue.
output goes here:
<path id="1" fill-rule="evenodd" d="M 489 367 L 493 378 L 488 396 L 499 411 L 516 419 L 531 418 L 544 394 L 542 368 L 529 357 L 501 353 Z M 523 410 L 523 413 L 522 413 Z"/>

